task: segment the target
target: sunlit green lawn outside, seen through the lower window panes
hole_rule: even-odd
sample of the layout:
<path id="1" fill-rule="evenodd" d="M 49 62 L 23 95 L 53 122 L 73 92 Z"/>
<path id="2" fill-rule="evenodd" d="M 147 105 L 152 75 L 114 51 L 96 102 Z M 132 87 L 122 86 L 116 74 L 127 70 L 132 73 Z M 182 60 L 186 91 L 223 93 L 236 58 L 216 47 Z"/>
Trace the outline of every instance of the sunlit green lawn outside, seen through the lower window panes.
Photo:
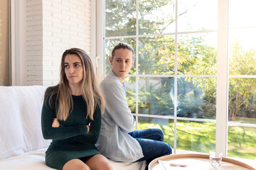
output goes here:
<path id="1" fill-rule="evenodd" d="M 215 123 L 177 120 L 177 149 L 208 153 L 215 149 Z M 139 120 L 138 129 L 161 128 L 164 142 L 174 147 L 174 123 L 148 123 Z M 256 128 L 229 127 L 228 156 L 256 159 Z"/>

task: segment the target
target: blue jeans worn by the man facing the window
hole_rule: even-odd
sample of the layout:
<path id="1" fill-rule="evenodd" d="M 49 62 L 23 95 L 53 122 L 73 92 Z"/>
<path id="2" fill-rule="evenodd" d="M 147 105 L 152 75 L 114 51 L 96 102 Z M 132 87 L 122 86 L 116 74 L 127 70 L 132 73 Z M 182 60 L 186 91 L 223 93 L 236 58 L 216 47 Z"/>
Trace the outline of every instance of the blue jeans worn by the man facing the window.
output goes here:
<path id="1" fill-rule="evenodd" d="M 160 129 L 134 130 L 129 132 L 129 135 L 134 137 L 142 147 L 144 157 L 137 162 L 146 160 L 146 164 L 149 165 L 153 159 L 172 153 L 170 145 L 163 142 L 164 133 Z"/>

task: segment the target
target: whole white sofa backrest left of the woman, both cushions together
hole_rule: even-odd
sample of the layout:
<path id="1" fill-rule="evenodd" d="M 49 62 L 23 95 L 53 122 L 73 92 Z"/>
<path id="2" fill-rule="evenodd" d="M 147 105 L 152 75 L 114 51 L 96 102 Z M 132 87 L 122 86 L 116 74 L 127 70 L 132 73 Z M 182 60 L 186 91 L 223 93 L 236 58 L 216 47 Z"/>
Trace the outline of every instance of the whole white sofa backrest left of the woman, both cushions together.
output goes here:
<path id="1" fill-rule="evenodd" d="M 0 159 L 48 147 L 41 133 L 47 86 L 0 86 Z"/>

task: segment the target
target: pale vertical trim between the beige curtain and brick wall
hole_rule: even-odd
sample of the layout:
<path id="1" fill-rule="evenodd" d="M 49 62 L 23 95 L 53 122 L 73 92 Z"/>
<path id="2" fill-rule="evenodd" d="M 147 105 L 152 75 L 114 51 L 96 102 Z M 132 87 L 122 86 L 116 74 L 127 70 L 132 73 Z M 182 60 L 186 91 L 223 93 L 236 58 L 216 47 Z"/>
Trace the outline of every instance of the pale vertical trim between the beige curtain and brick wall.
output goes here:
<path id="1" fill-rule="evenodd" d="M 11 0 L 11 85 L 27 85 L 26 3 Z"/>

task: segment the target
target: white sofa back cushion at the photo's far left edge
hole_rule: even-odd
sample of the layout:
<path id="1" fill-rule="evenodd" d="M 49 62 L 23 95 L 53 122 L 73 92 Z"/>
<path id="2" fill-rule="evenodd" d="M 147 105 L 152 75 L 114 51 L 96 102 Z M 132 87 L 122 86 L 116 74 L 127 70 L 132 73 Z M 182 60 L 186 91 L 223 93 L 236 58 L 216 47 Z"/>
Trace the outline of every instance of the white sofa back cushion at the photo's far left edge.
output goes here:
<path id="1" fill-rule="evenodd" d="M 15 90 L 0 86 L 0 159 L 22 154 L 26 151 L 23 140 L 21 118 L 19 116 Z"/>

